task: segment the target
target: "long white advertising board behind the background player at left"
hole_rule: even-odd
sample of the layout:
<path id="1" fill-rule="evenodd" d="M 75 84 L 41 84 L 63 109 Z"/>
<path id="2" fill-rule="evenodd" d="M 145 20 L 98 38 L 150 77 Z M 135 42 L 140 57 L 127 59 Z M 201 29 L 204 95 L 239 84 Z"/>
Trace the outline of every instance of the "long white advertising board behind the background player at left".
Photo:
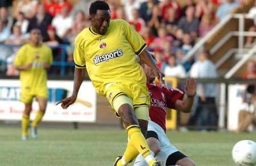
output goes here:
<path id="1" fill-rule="evenodd" d="M 77 101 L 64 110 L 56 102 L 71 96 L 73 81 L 48 81 L 49 98 L 43 121 L 96 122 L 96 91 L 90 81 L 82 83 Z M 20 120 L 24 104 L 19 101 L 19 80 L 0 80 L 0 119 Z M 38 103 L 33 101 L 30 119 L 34 119 Z"/>

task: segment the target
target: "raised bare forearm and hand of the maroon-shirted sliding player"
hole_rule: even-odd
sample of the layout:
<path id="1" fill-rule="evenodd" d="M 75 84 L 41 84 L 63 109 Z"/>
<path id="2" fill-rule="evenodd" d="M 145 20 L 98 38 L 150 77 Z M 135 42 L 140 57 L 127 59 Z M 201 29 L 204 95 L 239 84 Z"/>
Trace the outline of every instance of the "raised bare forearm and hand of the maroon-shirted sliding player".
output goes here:
<path id="1" fill-rule="evenodd" d="M 194 97 L 196 95 L 196 81 L 193 78 L 189 78 L 186 82 L 185 93 L 187 97 L 183 100 L 177 100 L 175 103 L 175 109 L 184 113 L 191 111 Z"/>

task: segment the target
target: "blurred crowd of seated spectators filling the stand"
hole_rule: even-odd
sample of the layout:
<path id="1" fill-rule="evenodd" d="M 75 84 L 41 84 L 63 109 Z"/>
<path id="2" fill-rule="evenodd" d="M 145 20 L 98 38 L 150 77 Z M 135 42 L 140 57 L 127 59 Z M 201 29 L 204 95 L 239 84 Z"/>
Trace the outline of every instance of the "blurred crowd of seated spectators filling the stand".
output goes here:
<path id="1" fill-rule="evenodd" d="M 196 61 L 181 64 L 185 53 L 196 41 L 207 34 L 216 23 L 235 10 L 243 1 L 236 0 L 106 0 L 112 19 L 125 19 L 141 34 L 147 45 L 155 51 L 158 67 L 166 76 L 186 77 Z M 72 2 L 72 1 L 71 1 Z M 0 42 L 22 45 L 28 41 L 28 32 L 39 28 L 43 42 L 51 47 L 68 44 L 67 62 L 73 61 L 73 41 L 85 27 L 91 0 L 72 4 L 65 0 L 19 0 L 0 3 Z M 253 31 L 255 27 L 251 27 Z M 254 39 L 248 40 L 249 44 Z M 0 46 L 0 63 L 11 64 L 19 47 Z M 60 49 L 53 48 L 55 60 Z M 1 65 L 0 72 L 6 72 Z M 7 71 L 7 74 L 15 74 Z"/>

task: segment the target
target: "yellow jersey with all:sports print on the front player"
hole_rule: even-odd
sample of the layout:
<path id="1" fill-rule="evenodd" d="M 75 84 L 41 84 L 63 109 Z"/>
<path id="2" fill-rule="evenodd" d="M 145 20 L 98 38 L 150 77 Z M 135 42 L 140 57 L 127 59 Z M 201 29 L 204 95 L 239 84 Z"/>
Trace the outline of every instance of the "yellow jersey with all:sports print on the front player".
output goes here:
<path id="1" fill-rule="evenodd" d="M 146 85 L 146 76 L 136 61 L 146 43 L 124 20 L 110 20 L 105 35 L 85 28 L 75 40 L 76 68 L 85 68 L 98 93 L 110 82 L 139 82 Z"/>

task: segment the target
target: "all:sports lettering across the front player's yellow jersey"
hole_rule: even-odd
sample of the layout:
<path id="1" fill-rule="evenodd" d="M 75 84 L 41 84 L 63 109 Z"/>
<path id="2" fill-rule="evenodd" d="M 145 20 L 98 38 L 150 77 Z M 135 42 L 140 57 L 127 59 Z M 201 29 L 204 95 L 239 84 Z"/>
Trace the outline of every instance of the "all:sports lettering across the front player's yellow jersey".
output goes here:
<path id="1" fill-rule="evenodd" d="M 93 63 L 94 64 L 102 63 L 104 61 L 109 61 L 110 59 L 114 59 L 114 58 L 122 56 L 122 55 L 123 55 L 122 49 L 117 49 L 113 52 L 105 53 L 104 55 L 94 56 Z"/>

